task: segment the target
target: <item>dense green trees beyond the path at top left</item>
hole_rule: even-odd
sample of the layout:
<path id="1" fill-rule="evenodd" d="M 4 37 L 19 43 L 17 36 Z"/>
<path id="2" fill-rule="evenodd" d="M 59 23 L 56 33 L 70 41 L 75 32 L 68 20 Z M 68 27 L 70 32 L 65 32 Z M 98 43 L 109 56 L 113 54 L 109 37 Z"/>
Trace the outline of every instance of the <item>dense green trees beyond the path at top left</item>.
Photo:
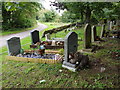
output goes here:
<path id="1" fill-rule="evenodd" d="M 27 28 L 36 24 L 37 11 L 42 8 L 36 2 L 3 2 L 3 29 Z"/>

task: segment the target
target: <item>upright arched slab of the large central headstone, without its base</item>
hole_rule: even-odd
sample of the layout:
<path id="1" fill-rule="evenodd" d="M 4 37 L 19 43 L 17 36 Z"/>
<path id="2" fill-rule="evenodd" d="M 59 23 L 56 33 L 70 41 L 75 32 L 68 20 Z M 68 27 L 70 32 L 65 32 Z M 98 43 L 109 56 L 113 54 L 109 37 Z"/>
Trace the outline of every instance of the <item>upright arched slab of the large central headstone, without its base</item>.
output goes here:
<path id="1" fill-rule="evenodd" d="M 69 32 L 64 40 L 65 61 L 69 62 L 69 54 L 77 52 L 78 35 L 75 32 Z"/>

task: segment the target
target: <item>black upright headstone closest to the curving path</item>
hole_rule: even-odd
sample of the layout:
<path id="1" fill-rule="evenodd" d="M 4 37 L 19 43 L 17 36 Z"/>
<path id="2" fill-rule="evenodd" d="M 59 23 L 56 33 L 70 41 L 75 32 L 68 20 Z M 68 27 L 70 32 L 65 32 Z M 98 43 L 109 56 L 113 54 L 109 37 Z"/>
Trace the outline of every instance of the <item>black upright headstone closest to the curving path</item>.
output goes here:
<path id="1" fill-rule="evenodd" d="M 31 32 L 31 40 L 32 40 L 32 44 L 36 44 L 37 42 L 40 42 L 39 31 L 34 30 Z"/>

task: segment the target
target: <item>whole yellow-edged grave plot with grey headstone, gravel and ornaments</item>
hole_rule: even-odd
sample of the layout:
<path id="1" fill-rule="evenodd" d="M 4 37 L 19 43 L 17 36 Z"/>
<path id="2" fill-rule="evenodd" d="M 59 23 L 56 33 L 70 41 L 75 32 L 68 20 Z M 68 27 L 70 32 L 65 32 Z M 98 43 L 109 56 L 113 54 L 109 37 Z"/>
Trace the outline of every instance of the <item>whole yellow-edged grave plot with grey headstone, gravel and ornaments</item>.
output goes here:
<path id="1" fill-rule="evenodd" d="M 40 42 L 30 45 L 30 48 L 33 48 L 33 50 L 23 50 L 21 48 L 19 37 L 13 37 L 7 40 L 7 47 L 9 56 L 6 56 L 6 58 L 8 60 L 60 63 L 63 58 L 57 52 L 45 52 L 45 47 Z"/>

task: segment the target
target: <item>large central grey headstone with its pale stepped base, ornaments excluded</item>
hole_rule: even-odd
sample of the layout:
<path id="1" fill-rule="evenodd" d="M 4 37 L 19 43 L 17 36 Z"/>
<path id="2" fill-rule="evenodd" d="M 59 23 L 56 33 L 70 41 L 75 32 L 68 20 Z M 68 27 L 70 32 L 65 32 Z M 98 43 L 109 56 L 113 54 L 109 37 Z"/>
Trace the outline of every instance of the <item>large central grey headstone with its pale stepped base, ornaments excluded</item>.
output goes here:
<path id="1" fill-rule="evenodd" d="M 65 61 L 63 62 L 62 67 L 75 71 L 76 65 L 69 63 L 69 55 L 77 52 L 78 35 L 75 32 L 70 32 L 67 34 L 64 40 Z"/>

